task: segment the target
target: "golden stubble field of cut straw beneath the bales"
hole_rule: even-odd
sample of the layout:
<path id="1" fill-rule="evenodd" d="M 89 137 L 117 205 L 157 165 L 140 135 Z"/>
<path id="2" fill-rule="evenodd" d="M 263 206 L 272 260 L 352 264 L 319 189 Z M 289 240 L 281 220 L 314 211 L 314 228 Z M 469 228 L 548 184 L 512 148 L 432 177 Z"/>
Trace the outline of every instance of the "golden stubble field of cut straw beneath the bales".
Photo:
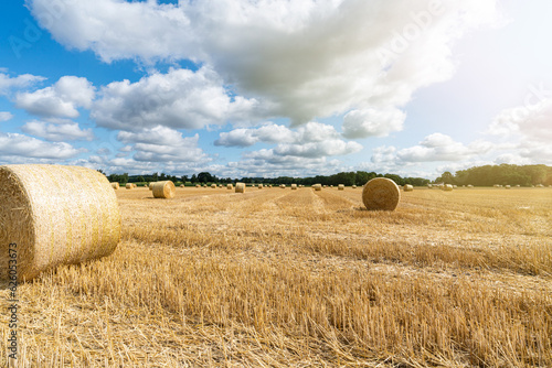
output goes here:
<path id="1" fill-rule="evenodd" d="M 20 367 L 552 367 L 552 190 L 361 191 L 118 190 L 110 257 L 19 286 Z"/>

